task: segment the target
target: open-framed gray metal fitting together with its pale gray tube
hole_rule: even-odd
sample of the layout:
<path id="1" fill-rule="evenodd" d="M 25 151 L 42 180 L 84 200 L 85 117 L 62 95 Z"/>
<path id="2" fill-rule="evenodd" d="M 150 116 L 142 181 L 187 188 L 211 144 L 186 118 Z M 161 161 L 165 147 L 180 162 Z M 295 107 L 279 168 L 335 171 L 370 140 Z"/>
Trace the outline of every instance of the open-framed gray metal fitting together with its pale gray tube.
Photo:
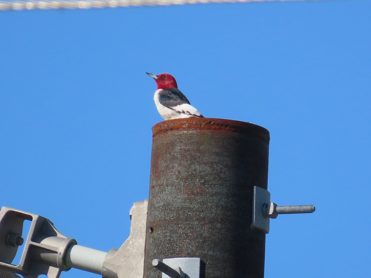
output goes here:
<path id="1" fill-rule="evenodd" d="M 27 236 L 22 235 L 23 222 L 31 221 Z M 18 246 L 24 243 L 18 265 L 13 265 Z M 102 273 L 106 252 L 77 245 L 73 238 L 62 235 L 49 219 L 29 212 L 3 207 L 0 211 L 0 277 L 36 278 L 45 274 L 58 278 L 71 267 Z M 143 247 L 144 256 L 144 247 Z"/>

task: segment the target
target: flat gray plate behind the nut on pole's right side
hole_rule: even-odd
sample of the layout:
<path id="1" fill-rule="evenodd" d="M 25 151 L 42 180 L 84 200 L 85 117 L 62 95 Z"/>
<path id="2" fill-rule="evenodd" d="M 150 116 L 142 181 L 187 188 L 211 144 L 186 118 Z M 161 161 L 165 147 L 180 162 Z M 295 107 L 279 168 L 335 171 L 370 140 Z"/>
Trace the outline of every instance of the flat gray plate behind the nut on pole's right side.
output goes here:
<path id="1" fill-rule="evenodd" d="M 254 186 L 253 218 L 251 226 L 269 233 L 269 217 L 264 217 L 263 206 L 270 202 L 270 193 L 264 188 Z"/>

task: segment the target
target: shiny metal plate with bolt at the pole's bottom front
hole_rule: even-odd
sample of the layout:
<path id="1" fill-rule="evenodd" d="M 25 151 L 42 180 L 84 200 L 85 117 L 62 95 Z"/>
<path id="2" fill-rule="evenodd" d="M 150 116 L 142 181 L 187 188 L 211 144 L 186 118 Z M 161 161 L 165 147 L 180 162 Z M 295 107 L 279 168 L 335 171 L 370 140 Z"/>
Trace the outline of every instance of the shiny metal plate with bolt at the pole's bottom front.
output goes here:
<path id="1" fill-rule="evenodd" d="M 154 259 L 152 265 L 162 272 L 162 278 L 200 278 L 200 258 Z"/>

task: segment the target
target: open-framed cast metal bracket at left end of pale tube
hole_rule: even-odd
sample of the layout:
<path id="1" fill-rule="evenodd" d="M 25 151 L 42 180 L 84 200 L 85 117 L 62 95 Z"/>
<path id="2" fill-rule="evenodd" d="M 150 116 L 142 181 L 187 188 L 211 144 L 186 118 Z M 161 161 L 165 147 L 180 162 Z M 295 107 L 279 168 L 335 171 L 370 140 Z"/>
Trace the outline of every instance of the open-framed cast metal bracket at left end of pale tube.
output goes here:
<path id="1" fill-rule="evenodd" d="M 19 265 L 12 265 L 21 238 L 23 221 L 30 220 L 31 227 L 24 245 Z M 65 254 L 77 244 L 75 239 L 62 235 L 53 223 L 42 216 L 3 206 L 0 210 L 0 269 L 22 274 L 24 278 L 36 278 L 40 274 L 58 278 L 68 270 Z"/>

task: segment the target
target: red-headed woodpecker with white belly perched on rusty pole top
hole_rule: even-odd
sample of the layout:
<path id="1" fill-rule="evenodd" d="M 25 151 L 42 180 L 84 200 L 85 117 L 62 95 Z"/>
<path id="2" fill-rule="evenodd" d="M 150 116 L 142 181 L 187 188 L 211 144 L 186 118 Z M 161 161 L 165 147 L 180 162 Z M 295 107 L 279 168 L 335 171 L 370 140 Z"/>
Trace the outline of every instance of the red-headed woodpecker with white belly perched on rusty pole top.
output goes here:
<path id="1" fill-rule="evenodd" d="M 157 83 L 157 90 L 153 99 L 162 118 L 165 120 L 191 117 L 204 118 L 178 89 L 177 82 L 172 75 L 169 73 L 161 73 L 159 75 L 146 73 Z"/>

